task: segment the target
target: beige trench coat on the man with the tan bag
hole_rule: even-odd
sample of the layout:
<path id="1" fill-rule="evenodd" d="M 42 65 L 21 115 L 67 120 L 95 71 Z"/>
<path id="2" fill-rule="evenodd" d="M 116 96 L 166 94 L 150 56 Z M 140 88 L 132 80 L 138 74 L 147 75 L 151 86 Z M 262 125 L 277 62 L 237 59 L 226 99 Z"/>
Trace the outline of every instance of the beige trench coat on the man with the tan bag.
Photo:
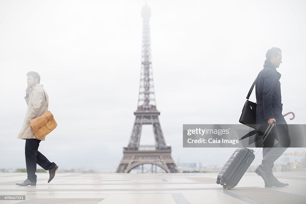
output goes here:
<path id="1" fill-rule="evenodd" d="M 37 139 L 30 127 L 29 121 L 41 116 L 48 110 L 47 104 L 49 104 L 49 97 L 43 88 L 43 84 L 37 84 L 30 89 L 29 96 L 24 97 L 24 99 L 28 104 L 28 111 L 17 139 Z M 45 140 L 45 136 L 39 140 Z"/>

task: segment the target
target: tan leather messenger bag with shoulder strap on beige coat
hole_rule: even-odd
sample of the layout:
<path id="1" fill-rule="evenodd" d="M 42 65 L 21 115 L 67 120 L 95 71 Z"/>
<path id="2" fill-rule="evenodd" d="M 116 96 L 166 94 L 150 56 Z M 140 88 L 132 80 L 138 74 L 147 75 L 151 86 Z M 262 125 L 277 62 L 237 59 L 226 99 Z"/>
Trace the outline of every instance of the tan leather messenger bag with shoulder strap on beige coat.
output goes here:
<path id="1" fill-rule="evenodd" d="M 43 90 L 43 93 L 45 95 L 45 99 L 47 103 L 47 97 L 46 97 L 44 90 Z M 48 103 L 47 103 L 47 107 L 48 107 Z M 48 110 L 45 113 L 43 113 L 43 115 L 30 120 L 29 123 L 37 139 L 40 139 L 43 136 L 46 136 L 52 130 L 54 130 L 57 126 L 57 123 L 54 120 L 52 113 Z"/>

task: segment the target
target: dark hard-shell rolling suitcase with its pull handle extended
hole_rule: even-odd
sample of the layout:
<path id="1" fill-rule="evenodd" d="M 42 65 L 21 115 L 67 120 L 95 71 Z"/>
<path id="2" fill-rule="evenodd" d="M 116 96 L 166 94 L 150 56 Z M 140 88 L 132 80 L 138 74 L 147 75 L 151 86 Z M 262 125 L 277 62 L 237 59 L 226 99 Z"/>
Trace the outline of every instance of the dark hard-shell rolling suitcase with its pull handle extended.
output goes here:
<path id="1" fill-rule="evenodd" d="M 263 134 L 263 138 L 259 142 L 258 148 L 255 150 L 255 153 L 254 150 L 244 147 L 237 148 L 234 151 L 232 156 L 219 172 L 216 182 L 217 184 L 221 184 L 224 189 L 227 188 L 230 190 L 239 183 L 244 173 L 252 164 L 259 148 L 263 147 L 263 142 L 271 132 L 274 125 L 275 124 L 268 126 L 267 130 Z"/>

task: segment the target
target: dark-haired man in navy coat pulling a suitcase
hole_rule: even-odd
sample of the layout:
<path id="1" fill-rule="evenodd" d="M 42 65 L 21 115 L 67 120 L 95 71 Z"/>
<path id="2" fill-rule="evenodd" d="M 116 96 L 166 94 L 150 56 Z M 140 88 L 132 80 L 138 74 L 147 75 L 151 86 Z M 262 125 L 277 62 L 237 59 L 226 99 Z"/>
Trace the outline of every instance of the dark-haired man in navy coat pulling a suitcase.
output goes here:
<path id="1" fill-rule="evenodd" d="M 272 47 L 267 51 L 266 58 L 255 82 L 256 124 L 261 124 L 264 130 L 273 122 L 276 126 L 263 143 L 263 160 L 255 172 L 263 178 L 265 187 L 283 187 L 289 184 L 278 181 L 272 173 L 274 161 L 290 146 L 288 125 L 282 115 L 281 74 L 276 71 L 282 63 L 281 49 Z M 275 139 L 278 143 L 274 145 Z"/>

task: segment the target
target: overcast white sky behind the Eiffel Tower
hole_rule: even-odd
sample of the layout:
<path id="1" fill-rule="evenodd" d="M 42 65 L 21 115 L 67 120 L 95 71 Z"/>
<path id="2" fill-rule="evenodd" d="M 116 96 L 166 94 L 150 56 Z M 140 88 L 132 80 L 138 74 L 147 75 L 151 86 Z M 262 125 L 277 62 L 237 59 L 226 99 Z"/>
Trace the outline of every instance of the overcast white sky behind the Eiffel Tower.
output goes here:
<path id="1" fill-rule="evenodd" d="M 283 113 L 296 113 L 288 124 L 305 124 L 305 1 L 147 2 L 156 104 L 176 162 L 228 159 L 233 149 L 183 148 L 183 124 L 238 124 L 273 46 L 282 49 Z M 137 108 L 143 5 L 0 1 L 0 168 L 25 168 L 16 138 L 28 71 L 41 75 L 58 123 L 39 151 L 62 168 L 117 168 Z M 145 136 L 141 143 L 151 141 Z"/>

